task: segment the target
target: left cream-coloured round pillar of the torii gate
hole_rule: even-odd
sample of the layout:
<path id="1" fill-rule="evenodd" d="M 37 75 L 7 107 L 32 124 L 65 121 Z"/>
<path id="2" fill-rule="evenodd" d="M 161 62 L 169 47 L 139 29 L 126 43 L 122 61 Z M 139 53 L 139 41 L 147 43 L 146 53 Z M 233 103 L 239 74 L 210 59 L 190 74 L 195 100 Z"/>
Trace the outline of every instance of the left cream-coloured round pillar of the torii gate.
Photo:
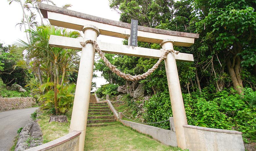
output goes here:
<path id="1" fill-rule="evenodd" d="M 97 37 L 100 31 L 97 27 L 92 25 L 86 25 L 83 28 L 84 41 L 94 40 L 97 41 Z M 86 132 L 86 123 L 88 117 L 88 109 L 91 93 L 91 81 L 93 76 L 93 64 L 94 64 L 95 48 L 91 43 L 87 43 L 82 48 L 82 54 L 79 64 L 77 83 L 75 89 L 75 99 L 70 123 L 69 132 L 77 131 L 81 132 L 79 138 L 79 151 L 84 150 L 84 140 Z"/>

